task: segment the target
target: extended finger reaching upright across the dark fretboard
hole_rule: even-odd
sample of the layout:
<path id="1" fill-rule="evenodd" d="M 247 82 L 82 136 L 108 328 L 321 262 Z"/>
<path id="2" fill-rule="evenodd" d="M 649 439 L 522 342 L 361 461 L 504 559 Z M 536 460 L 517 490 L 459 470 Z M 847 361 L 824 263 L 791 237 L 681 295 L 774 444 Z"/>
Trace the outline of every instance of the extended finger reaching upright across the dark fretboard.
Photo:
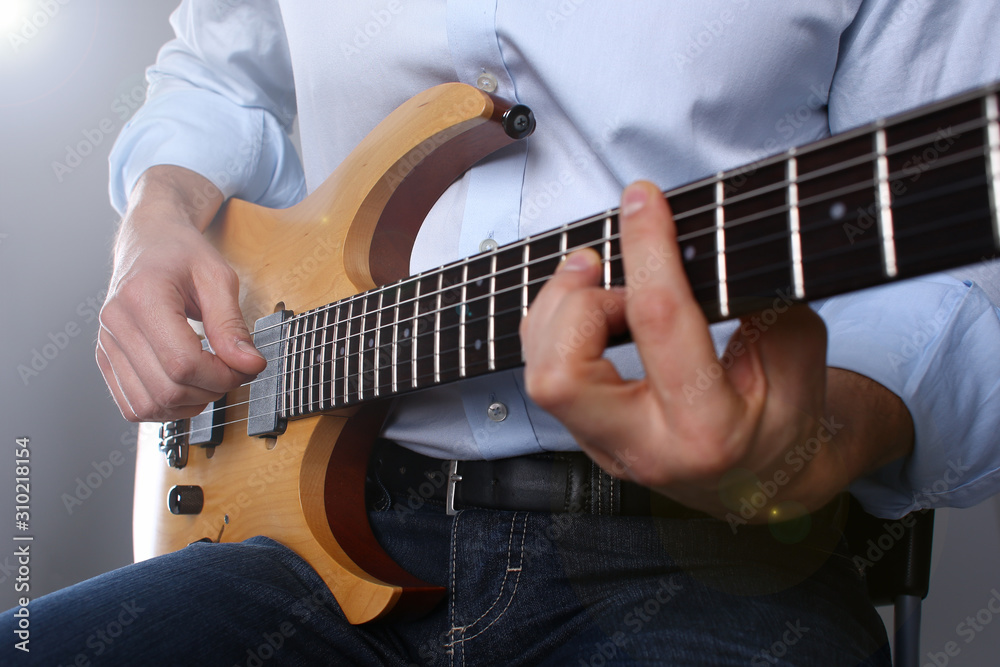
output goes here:
<path id="1" fill-rule="evenodd" d="M 647 379 L 668 407 L 690 410 L 685 386 L 717 364 L 717 357 L 680 260 L 673 217 L 656 186 L 640 181 L 625 189 L 620 229 L 626 315 Z M 707 412 L 727 409 L 734 398 L 724 380 L 705 394 L 708 400 L 699 401 L 698 409 Z"/>

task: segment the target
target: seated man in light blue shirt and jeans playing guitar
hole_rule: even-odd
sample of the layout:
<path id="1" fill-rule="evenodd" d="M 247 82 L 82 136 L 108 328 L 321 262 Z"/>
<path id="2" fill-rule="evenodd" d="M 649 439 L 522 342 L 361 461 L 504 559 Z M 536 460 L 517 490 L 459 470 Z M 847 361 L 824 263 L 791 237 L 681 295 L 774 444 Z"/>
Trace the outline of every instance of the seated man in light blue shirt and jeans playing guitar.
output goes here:
<path id="1" fill-rule="evenodd" d="M 427 503 L 401 513 L 407 481 L 376 471 L 377 537 L 448 589 L 420 621 L 350 628 L 304 563 L 252 540 L 68 589 L 39 601 L 40 622 L 90 596 L 95 620 L 62 635 L 86 651 L 89 625 L 134 601 L 149 620 L 136 611 L 101 655 L 150 663 L 884 664 L 879 621 L 832 546 L 828 503 L 858 479 L 887 515 L 995 490 L 989 434 L 1000 411 L 986 406 L 1000 377 L 987 354 L 1000 345 L 997 311 L 971 282 L 936 277 L 833 299 L 819 316 L 795 307 L 767 327 L 710 333 L 656 192 L 1000 78 L 990 39 L 1000 12 L 971 0 L 314 4 L 192 0 L 173 17 L 178 39 L 112 157 L 125 218 L 97 357 L 123 415 L 190 416 L 263 369 L 235 276 L 201 236 L 224 199 L 293 203 L 403 99 L 458 80 L 528 104 L 539 130 L 449 189 L 413 271 L 606 209 L 636 179 L 656 186 L 621 195 L 630 293 L 596 288 L 596 258 L 571 255 L 522 324 L 523 376 L 400 401 L 384 468 L 582 447 L 670 500 L 662 511 L 646 502 L 645 515 L 606 509 L 593 500 L 640 487 L 595 475 L 580 512 L 514 504 L 450 517 Z M 296 113 L 304 178 L 285 134 Z M 642 267 L 656 270 L 638 280 Z M 888 313 L 877 326 L 876 313 Z M 186 317 L 205 323 L 215 356 Z M 573 338 L 593 321 L 592 335 Z M 940 324 L 914 338 L 927 321 Z M 608 334 L 626 328 L 635 349 L 605 356 Z M 685 392 L 737 328 L 731 349 L 745 352 Z M 907 344 L 912 354 L 891 354 Z M 811 438 L 827 446 L 787 474 L 789 452 Z M 972 463 L 937 489 L 945 445 Z M 737 482 L 778 473 L 787 482 L 766 514 L 733 519 Z M 782 532 L 803 524 L 780 520 L 807 513 L 807 534 Z M 774 533 L 744 525 L 769 518 Z M 821 547 L 833 555 L 817 558 Z"/>

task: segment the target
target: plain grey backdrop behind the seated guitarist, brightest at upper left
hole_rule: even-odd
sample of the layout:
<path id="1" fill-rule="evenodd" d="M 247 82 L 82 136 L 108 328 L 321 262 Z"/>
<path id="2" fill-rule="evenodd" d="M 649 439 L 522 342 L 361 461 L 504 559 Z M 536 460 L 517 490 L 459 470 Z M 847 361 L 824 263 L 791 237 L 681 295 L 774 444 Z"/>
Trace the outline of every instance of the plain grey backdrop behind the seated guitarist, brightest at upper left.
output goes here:
<path id="1" fill-rule="evenodd" d="M 31 438 L 31 594 L 131 561 L 135 427 L 121 419 L 94 363 L 94 308 L 117 223 L 107 203 L 107 154 L 141 100 L 145 66 L 171 34 L 176 0 L 61 1 L 51 2 L 58 11 L 36 20 L 35 31 L 24 29 L 23 17 L 37 18 L 40 0 L 3 0 L 0 9 L 2 608 L 17 598 L 10 541 L 16 437 Z M 25 12 L 10 23 L 19 5 Z M 77 161 L 67 157 L 70 149 L 88 154 Z M 36 351 L 39 367 L 46 352 L 52 358 L 22 378 L 18 366 L 30 368 Z M 119 456 L 125 463 L 113 465 Z M 83 500 L 67 504 L 74 496 Z M 960 653 L 949 664 L 997 664 L 1000 620 L 968 643 L 957 626 L 1000 590 L 998 509 L 994 499 L 939 512 L 923 662 L 954 641 Z M 981 618 L 987 614 L 992 619 L 989 612 Z"/>

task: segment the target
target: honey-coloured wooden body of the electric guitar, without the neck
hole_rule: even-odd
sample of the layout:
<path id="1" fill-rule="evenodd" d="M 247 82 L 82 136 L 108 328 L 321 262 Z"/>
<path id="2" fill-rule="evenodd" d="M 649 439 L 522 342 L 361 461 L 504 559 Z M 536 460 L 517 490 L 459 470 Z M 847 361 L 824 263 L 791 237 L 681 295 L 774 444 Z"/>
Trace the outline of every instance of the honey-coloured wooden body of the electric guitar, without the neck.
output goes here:
<path id="1" fill-rule="evenodd" d="M 239 276 L 250 330 L 276 310 L 303 312 L 405 277 L 413 240 L 434 201 L 474 162 L 515 141 L 504 129 L 506 111 L 475 88 L 438 86 L 387 117 L 298 205 L 271 210 L 231 200 L 206 234 Z M 376 402 L 291 420 L 282 435 L 256 438 L 247 435 L 248 396 L 246 387 L 227 395 L 221 445 L 190 447 L 181 469 L 168 466 L 158 451 L 158 425 L 143 425 L 135 559 L 202 538 L 267 535 L 319 573 L 352 623 L 418 613 L 440 599 L 440 589 L 388 559 L 368 527 L 365 469 L 383 407 Z M 338 470 L 337 480 L 328 480 L 331 469 Z M 175 486 L 202 489 L 199 513 L 168 510 Z M 346 544 L 334 537 L 331 518 Z"/>

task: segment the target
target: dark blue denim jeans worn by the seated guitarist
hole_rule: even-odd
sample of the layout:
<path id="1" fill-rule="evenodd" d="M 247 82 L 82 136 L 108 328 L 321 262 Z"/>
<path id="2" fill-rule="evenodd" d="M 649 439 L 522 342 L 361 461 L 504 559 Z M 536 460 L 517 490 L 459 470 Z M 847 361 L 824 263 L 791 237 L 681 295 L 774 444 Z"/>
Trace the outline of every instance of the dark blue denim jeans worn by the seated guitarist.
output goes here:
<path id="1" fill-rule="evenodd" d="M 710 519 L 377 506 L 388 553 L 448 591 L 419 620 L 348 625 L 308 565 L 258 537 L 32 601 L 27 654 L 9 611 L 0 664 L 889 664 L 864 583 L 823 521 L 803 540 Z"/>

